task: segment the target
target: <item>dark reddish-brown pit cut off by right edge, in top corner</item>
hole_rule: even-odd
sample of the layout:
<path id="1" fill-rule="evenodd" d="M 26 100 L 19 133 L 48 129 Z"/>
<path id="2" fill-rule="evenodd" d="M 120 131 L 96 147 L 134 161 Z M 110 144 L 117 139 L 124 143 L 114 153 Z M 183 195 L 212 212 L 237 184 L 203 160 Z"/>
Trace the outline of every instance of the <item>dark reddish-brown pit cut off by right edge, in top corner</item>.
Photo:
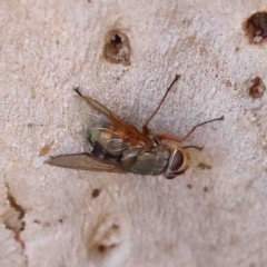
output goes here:
<path id="1" fill-rule="evenodd" d="M 267 38 L 267 12 L 256 12 L 245 22 L 250 43 L 260 43 Z"/>

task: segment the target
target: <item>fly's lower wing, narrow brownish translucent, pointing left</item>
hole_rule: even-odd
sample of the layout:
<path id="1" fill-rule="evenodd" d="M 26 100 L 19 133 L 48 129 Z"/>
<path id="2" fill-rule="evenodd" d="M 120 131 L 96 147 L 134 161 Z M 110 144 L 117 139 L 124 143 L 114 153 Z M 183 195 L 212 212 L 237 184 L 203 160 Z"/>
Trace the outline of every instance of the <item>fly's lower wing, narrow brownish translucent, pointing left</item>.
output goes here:
<path id="1" fill-rule="evenodd" d="M 116 161 L 101 161 L 89 154 L 60 155 L 46 160 L 44 164 L 69 169 L 127 172 L 127 169 L 125 169 L 121 165 L 116 164 Z"/>

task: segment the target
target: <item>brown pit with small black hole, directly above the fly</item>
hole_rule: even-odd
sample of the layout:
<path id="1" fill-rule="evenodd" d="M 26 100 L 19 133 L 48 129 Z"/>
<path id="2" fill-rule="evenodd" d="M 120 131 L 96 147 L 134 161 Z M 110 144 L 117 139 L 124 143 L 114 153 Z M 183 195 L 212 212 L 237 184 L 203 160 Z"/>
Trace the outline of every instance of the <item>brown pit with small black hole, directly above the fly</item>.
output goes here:
<path id="1" fill-rule="evenodd" d="M 103 58 L 107 61 L 129 66 L 130 53 L 130 42 L 126 33 L 120 30 L 111 30 L 107 33 L 103 48 Z"/>

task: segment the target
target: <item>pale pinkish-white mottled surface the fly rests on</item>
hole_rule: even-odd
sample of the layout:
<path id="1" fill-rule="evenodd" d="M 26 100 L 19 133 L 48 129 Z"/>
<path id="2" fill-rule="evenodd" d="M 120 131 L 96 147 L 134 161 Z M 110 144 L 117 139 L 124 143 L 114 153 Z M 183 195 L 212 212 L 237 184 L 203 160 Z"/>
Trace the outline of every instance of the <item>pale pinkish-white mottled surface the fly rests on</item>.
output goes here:
<path id="1" fill-rule="evenodd" d="M 267 98 L 248 95 L 256 76 L 267 85 L 266 46 L 250 44 L 243 31 L 246 18 L 266 6 L 1 0 L 0 266 L 267 266 Z M 112 29 L 129 38 L 130 66 L 101 56 Z M 80 151 L 69 109 L 73 87 L 141 125 L 176 73 L 181 79 L 151 122 L 155 131 L 182 136 L 225 115 L 189 138 L 205 149 L 191 150 L 184 176 L 42 164 Z M 24 248 L 4 226 L 12 209 L 6 185 L 26 211 Z"/>

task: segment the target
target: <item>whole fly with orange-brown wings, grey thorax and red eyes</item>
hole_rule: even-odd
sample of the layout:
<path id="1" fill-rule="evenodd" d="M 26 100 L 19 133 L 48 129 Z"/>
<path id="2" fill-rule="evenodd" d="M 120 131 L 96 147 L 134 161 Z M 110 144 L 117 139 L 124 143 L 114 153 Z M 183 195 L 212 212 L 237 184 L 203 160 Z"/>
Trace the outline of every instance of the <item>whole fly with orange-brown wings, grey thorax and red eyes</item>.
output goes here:
<path id="1" fill-rule="evenodd" d="M 188 148 L 182 147 L 185 141 L 198 127 L 220 118 L 199 123 L 182 138 L 170 134 L 154 134 L 148 123 L 164 103 L 169 90 L 180 76 L 176 76 L 168 87 L 161 101 L 148 118 L 142 129 L 128 123 L 112 113 L 108 108 L 90 97 L 85 97 L 77 89 L 77 100 L 83 116 L 86 126 L 86 141 L 90 151 L 85 154 L 61 155 L 51 157 L 46 164 L 91 171 L 134 172 L 139 175 L 158 176 L 164 174 L 167 179 L 172 179 L 186 171 L 189 165 Z M 92 126 L 90 120 L 97 119 Z"/>

